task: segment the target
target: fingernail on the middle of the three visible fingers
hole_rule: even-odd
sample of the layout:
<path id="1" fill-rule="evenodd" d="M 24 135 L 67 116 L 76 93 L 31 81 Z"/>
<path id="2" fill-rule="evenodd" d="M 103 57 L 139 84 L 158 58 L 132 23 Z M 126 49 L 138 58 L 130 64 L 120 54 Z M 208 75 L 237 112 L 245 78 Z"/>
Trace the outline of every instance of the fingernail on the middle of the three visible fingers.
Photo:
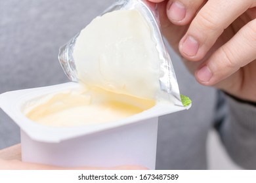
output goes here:
<path id="1" fill-rule="evenodd" d="M 191 36 L 186 37 L 185 41 L 181 44 L 181 51 L 187 56 L 196 56 L 198 48 L 198 41 Z"/>

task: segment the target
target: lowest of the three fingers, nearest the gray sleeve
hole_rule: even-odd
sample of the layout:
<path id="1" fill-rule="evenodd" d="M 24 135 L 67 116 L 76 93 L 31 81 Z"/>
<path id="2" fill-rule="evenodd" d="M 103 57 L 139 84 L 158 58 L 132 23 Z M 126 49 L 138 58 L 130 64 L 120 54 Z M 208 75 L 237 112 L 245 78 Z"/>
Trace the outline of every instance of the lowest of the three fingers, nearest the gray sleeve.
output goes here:
<path id="1" fill-rule="evenodd" d="M 242 27 L 196 71 L 197 80 L 214 85 L 256 59 L 256 19 Z M 252 80 L 254 78 L 251 78 Z M 228 84 L 222 84 L 223 89 Z"/>

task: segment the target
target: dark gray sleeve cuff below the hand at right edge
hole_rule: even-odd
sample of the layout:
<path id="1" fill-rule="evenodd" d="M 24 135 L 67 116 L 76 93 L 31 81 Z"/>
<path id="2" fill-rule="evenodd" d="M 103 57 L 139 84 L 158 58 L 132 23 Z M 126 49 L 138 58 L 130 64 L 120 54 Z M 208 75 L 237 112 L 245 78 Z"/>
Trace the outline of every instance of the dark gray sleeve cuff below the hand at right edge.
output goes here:
<path id="1" fill-rule="evenodd" d="M 256 169 L 256 107 L 221 95 L 224 96 L 219 97 L 219 118 L 215 127 L 226 151 L 244 169 Z"/>

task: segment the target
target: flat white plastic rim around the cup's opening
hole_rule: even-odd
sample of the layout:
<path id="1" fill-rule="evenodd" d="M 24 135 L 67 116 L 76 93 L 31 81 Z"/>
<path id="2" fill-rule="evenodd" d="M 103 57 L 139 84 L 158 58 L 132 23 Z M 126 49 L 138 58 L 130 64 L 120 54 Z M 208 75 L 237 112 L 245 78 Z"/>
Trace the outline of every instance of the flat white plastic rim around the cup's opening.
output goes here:
<path id="1" fill-rule="evenodd" d="M 148 110 L 144 110 L 139 114 L 135 114 L 123 120 L 107 122 L 96 125 L 82 125 L 75 127 L 53 127 L 41 125 L 28 119 L 21 111 L 22 105 L 26 102 L 42 97 L 50 93 L 62 92 L 68 89 L 77 88 L 80 85 L 76 82 L 67 82 L 53 86 L 45 86 L 41 88 L 31 88 L 25 90 L 16 90 L 12 92 L 2 93 L 0 95 L 0 108 L 9 115 L 12 120 L 35 141 L 41 142 L 60 142 L 83 135 L 89 135 L 99 131 L 113 129 L 123 125 L 134 124 L 149 118 L 158 118 L 165 114 L 171 114 L 180 110 L 190 108 L 174 105 L 173 103 L 156 103 L 156 105 Z"/>

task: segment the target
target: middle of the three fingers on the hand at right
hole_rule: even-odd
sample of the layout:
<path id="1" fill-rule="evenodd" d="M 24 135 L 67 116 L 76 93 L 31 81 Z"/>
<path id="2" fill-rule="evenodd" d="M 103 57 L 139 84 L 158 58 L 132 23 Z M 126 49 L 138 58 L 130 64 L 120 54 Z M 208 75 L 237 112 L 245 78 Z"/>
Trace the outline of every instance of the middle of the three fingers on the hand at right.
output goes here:
<path id="1" fill-rule="evenodd" d="M 251 0 L 207 1 L 181 39 L 181 55 L 191 61 L 202 59 L 224 29 L 250 7 L 248 2 Z"/>

